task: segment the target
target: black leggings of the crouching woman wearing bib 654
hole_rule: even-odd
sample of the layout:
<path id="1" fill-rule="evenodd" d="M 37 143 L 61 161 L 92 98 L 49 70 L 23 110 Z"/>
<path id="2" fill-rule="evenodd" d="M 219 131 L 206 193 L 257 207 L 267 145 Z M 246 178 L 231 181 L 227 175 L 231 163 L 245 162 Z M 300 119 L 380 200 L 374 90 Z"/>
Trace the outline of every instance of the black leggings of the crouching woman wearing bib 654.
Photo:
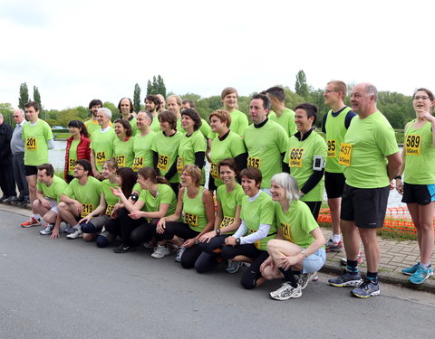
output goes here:
<path id="1" fill-rule="evenodd" d="M 172 240 L 175 236 L 183 240 L 195 238 L 199 234 L 198 231 L 193 231 L 187 223 L 178 221 L 166 222 L 166 228 L 163 233 L 157 233 L 156 237 L 158 241 Z M 181 256 L 181 266 L 183 268 L 193 268 L 195 261 L 197 261 L 201 250 L 198 245 L 194 245 L 186 249 Z"/>

